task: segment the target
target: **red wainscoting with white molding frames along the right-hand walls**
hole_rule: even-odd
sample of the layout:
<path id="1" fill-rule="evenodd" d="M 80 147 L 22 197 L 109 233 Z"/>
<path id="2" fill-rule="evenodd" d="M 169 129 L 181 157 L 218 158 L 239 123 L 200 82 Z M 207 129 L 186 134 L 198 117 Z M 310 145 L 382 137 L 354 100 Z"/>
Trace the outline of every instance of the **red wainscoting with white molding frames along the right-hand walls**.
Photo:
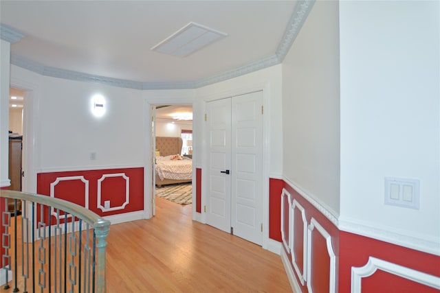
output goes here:
<path id="1" fill-rule="evenodd" d="M 285 189 L 285 191 L 283 191 Z M 281 198 L 282 194 L 290 194 L 292 204 L 292 222 L 289 223 L 286 217 L 281 219 Z M 286 204 L 284 204 L 286 205 Z M 296 208 L 298 207 L 298 208 Z M 305 217 L 301 215 L 304 210 Z M 338 293 L 370 293 L 370 292 L 439 292 L 438 289 L 420 281 L 428 278 L 434 284 L 440 286 L 440 257 L 419 250 L 413 250 L 398 246 L 378 239 L 364 237 L 361 235 L 339 231 L 335 219 L 331 215 L 327 216 L 311 204 L 304 196 L 299 194 L 294 187 L 284 180 L 270 179 L 270 238 L 283 243 L 281 239 L 281 226 L 289 224 L 289 233 L 293 239 L 289 239 L 290 249 L 286 249 L 282 244 L 287 258 L 292 260 L 290 268 L 296 277 L 296 283 L 300 292 L 333 292 Z M 305 218 L 306 220 L 303 220 Z M 330 220 L 331 219 L 331 220 Z M 281 222 L 283 221 L 283 225 Z M 307 240 L 304 241 L 304 222 L 307 223 Z M 286 229 L 284 229 L 285 231 Z M 285 231 L 287 234 L 287 231 Z M 304 247 L 306 246 L 306 247 Z M 331 250 L 329 252 L 329 249 Z M 290 251 L 289 251 L 290 250 Z M 305 270 L 310 270 L 310 274 L 305 274 L 302 266 L 304 250 L 307 252 Z M 370 262 L 369 262 L 370 261 Z M 373 263 L 377 270 L 372 271 L 371 275 L 365 273 L 369 270 L 367 263 Z M 393 268 L 391 272 L 381 270 L 383 268 Z M 355 284 L 352 291 L 352 268 L 355 280 L 359 280 L 359 288 Z M 412 275 L 422 274 L 425 277 L 417 277 L 411 281 L 401 275 L 403 272 L 412 272 Z M 369 277 L 363 277 L 369 276 Z M 428 276 L 428 277 L 426 277 Z M 431 283 L 431 284 L 432 284 Z M 435 286 L 435 285 L 434 285 Z"/>

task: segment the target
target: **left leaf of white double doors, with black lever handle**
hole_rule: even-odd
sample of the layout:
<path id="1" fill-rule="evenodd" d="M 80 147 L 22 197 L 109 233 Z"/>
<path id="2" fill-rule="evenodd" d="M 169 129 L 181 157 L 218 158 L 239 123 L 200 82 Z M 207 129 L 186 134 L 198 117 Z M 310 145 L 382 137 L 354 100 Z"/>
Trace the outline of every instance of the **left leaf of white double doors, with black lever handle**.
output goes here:
<path id="1" fill-rule="evenodd" d="M 208 123 L 208 224 L 223 231 L 231 228 L 231 101 L 219 99 L 207 106 Z"/>

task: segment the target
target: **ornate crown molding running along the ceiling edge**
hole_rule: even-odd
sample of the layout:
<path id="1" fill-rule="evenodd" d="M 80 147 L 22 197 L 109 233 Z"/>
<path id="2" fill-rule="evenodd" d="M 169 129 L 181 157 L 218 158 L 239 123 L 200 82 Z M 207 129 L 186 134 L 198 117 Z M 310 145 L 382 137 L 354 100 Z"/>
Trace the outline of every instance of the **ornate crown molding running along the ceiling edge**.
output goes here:
<path id="1" fill-rule="evenodd" d="M 137 89 L 137 90 L 165 90 L 165 89 L 197 89 L 202 86 L 208 86 L 210 84 L 215 84 L 217 82 L 223 82 L 225 80 L 230 80 L 231 78 L 236 78 L 241 75 L 252 73 L 254 71 L 259 71 L 273 65 L 280 64 L 290 47 L 294 43 L 298 32 L 300 31 L 305 19 L 314 5 L 315 0 L 300 0 L 296 3 L 294 12 L 289 20 L 281 43 L 278 45 L 276 54 L 261 58 L 254 62 L 250 62 L 241 67 L 219 73 L 217 75 L 210 76 L 209 78 L 203 78 L 201 80 L 192 82 L 135 82 L 131 80 L 120 80 L 118 78 L 107 78 L 100 75 L 91 75 L 87 73 L 81 73 L 78 71 L 70 71 L 67 69 L 60 69 L 55 67 L 46 67 L 28 60 L 16 54 L 11 54 L 11 64 L 30 71 L 34 71 L 41 75 L 51 76 L 53 78 L 63 78 L 67 80 L 76 80 L 80 82 L 91 82 L 98 84 L 107 84 L 109 86 L 117 86 L 126 89 Z M 4 33 L 3 33 L 4 31 Z M 4 38 L 3 38 L 4 34 Z M 13 40 L 12 43 L 17 42 L 25 36 L 21 32 L 14 30 L 12 27 L 1 24 L 1 38 L 5 40 Z M 8 39 L 7 39 L 8 37 Z"/>

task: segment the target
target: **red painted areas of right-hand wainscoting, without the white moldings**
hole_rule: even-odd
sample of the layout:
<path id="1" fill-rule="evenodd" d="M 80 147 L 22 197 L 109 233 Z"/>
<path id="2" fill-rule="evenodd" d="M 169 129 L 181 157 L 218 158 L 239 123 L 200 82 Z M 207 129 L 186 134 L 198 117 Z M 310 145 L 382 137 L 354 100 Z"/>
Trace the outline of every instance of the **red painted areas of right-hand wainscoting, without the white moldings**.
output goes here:
<path id="1" fill-rule="evenodd" d="M 369 257 L 396 263 L 406 268 L 432 274 L 440 277 L 440 257 L 398 246 L 378 239 L 372 239 L 353 233 L 339 231 L 338 228 L 313 204 L 303 198 L 296 190 L 283 180 L 270 179 L 270 238 L 281 242 L 281 193 L 283 187 L 291 194 L 292 200 L 297 200 L 305 209 L 307 223 L 314 218 L 331 236 L 331 244 L 336 255 L 336 292 L 351 292 L 351 268 L 362 267 Z M 296 213 L 296 212 L 295 212 Z M 299 214 L 299 213 L 298 213 Z M 288 214 L 287 214 L 288 215 Z M 287 216 L 286 215 L 286 216 Z M 303 229 L 297 226 L 300 217 L 294 215 L 294 246 L 300 254 L 300 239 L 303 239 Z M 286 220 L 286 219 L 285 219 Z M 288 221 L 287 221 L 288 222 Z M 320 233 L 313 231 L 312 237 L 312 283 L 314 292 L 328 292 L 329 286 L 329 256 L 327 246 Z M 283 248 L 284 249 L 284 248 Z M 287 252 L 286 252 L 287 253 Z M 287 253 L 289 259 L 292 255 Z M 298 265 L 300 255 L 295 254 Z M 294 271 L 292 266 L 292 271 Z M 319 281 L 318 284 L 315 281 Z M 297 277 L 297 283 L 300 284 Z M 307 283 L 301 286 L 301 292 L 308 292 Z M 408 279 L 402 279 L 395 274 L 378 270 L 371 277 L 362 279 L 362 292 L 439 292 L 434 288 L 421 285 Z"/>

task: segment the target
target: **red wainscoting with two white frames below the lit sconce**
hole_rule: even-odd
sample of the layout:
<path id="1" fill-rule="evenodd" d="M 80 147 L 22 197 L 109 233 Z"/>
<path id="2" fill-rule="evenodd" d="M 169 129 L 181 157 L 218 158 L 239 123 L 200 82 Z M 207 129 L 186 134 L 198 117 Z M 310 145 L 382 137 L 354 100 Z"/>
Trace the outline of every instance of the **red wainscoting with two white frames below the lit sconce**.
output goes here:
<path id="1" fill-rule="evenodd" d="M 144 209 L 144 168 L 37 174 L 37 194 L 62 198 L 100 216 Z M 99 202 L 98 202 L 99 200 Z M 107 209 L 105 201 L 110 205 Z"/>

